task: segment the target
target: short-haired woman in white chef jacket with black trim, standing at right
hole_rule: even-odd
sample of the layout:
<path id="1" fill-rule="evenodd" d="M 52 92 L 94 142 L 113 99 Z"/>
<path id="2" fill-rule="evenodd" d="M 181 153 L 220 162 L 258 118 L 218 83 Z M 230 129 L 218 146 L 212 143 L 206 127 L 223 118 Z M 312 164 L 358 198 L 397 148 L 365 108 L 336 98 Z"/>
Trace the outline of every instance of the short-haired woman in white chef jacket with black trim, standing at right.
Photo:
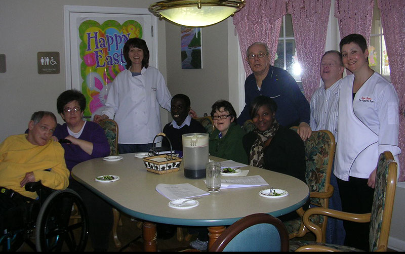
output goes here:
<path id="1" fill-rule="evenodd" d="M 343 211 L 370 213 L 378 156 L 389 150 L 397 160 L 398 96 L 383 76 L 369 67 L 366 39 L 350 34 L 340 41 L 344 66 L 334 174 Z M 369 223 L 344 222 L 345 244 L 369 250 Z"/>

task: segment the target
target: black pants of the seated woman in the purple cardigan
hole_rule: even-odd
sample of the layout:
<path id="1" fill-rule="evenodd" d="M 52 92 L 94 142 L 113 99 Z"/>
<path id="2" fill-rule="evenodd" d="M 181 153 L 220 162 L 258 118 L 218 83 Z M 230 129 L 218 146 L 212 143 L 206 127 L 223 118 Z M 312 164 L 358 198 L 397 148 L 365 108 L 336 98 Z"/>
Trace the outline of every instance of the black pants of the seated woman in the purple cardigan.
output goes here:
<path id="1" fill-rule="evenodd" d="M 93 248 L 106 251 L 113 224 L 112 206 L 74 179 L 69 179 L 68 188 L 77 192 L 85 203 Z"/>

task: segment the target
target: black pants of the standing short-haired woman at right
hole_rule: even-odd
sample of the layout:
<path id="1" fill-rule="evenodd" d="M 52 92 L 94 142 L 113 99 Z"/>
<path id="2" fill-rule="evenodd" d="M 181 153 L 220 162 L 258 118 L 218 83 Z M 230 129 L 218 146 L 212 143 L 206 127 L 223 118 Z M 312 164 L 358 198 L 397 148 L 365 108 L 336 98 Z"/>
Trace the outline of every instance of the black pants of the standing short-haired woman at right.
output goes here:
<path id="1" fill-rule="evenodd" d="M 354 214 L 371 213 L 374 189 L 367 185 L 368 179 L 349 177 L 349 181 L 337 179 L 342 210 Z M 343 221 L 346 231 L 345 245 L 369 250 L 370 223 Z"/>

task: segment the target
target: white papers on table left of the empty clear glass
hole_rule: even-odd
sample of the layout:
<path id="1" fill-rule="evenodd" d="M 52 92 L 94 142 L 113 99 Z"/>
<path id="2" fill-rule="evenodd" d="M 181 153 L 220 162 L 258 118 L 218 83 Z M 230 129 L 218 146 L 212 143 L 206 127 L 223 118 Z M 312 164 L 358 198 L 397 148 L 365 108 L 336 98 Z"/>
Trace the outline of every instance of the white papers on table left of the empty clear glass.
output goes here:
<path id="1" fill-rule="evenodd" d="M 179 198 L 189 198 L 210 195 L 209 192 L 201 190 L 191 184 L 158 184 L 156 185 L 156 191 L 170 200 Z"/>

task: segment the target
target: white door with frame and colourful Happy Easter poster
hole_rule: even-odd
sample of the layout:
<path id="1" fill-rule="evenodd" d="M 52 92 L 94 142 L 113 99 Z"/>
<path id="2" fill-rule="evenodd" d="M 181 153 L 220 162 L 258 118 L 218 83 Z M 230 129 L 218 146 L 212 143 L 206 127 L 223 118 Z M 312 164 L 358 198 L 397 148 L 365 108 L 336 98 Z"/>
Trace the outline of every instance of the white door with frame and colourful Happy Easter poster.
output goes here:
<path id="1" fill-rule="evenodd" d="M 85 116 L 101 114 L 116 75 L 126 68 L 129 38 L 146 41 L 149 65 L 157 68 L 157 18 L 147 9 L 64 6 L 66 89 L 82 92 Z"/>

